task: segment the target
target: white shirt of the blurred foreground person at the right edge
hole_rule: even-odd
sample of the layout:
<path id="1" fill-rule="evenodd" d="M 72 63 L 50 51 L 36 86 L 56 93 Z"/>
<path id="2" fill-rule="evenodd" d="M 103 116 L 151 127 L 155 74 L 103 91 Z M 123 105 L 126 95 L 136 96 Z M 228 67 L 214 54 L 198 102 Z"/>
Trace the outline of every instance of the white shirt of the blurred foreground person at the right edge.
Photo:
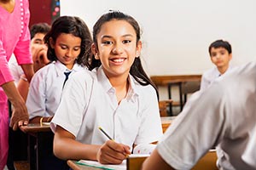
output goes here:
<path id="1" fill-rule="evenodd" d="M 209 149 L 218 145 L 224 157 L 222 169 L 256 169 L 256 147 L 251 138 L 256 127 L 256 64 L 233 69 L 212 82 L 206 90 L 193 94 L 177 116 L 157 150 L 175 169 L 191 169 Z M 246 154 L 246 161 L 241 156 Z"/>

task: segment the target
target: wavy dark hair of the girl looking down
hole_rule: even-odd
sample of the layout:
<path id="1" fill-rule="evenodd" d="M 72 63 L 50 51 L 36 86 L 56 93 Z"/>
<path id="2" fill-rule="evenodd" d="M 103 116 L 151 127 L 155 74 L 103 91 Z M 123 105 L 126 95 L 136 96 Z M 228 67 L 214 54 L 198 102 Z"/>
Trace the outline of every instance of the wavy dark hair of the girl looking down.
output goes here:
<path id="1" fill-rule="evenodd" d="M 90 62 L 87 59 L 90 60 L 92 57 L 90 49 L 92 38 L 84 20 L 76 16 L 61 16 L 53 22 L 50 31 L 44 37 L 44 42 L 48 45 L 48 59 L 51 61 L 57 60 L 55 49 L 50 47 L 49 39 L 52 38 L 56 42 L 57 37 L 62 33 L 72 34 L 75 37 L 81 38 L 81 52 L 78 56 L 77 63 L 89 67 Z"/>

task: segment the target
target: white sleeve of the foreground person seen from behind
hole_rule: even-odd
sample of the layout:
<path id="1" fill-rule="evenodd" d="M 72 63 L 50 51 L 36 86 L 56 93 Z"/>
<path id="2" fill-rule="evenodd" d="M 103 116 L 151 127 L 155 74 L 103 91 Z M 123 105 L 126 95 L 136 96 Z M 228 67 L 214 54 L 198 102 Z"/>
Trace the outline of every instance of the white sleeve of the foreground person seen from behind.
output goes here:
<path id="1" fill-rule="evenodd" d="M 229 111 L 225 111 L 223 90 L 217 86 L 208 89 L 189 98 L 157 145 L 160 156 L 175 169 L 191 169 L 219 143 L 229 126 L 224 123 L 225 113 Z"/>

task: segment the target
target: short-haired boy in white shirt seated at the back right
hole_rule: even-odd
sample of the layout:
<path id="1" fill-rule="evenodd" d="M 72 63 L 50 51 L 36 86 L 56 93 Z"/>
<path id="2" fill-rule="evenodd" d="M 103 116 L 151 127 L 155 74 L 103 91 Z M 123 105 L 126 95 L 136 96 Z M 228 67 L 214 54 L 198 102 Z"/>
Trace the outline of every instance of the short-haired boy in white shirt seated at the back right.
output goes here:
<path id="1" fill-rule="evenodd" d="M 229 42 L 224 40 L 212 42 L 209 46 L 209 54 L 212 63 L 216 67 L 213 67 L 202 75 L 200 89 L 206 89 L 212 81 L 231 70 L 230 59 L 232 59 L 232 49 Z"/>

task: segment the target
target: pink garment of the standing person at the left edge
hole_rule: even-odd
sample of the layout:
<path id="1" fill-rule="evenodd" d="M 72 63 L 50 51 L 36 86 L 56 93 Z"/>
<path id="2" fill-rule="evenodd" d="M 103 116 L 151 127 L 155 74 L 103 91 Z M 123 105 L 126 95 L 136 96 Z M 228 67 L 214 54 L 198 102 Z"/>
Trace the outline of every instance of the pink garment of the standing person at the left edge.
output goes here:
<path id="1" fill-rule="evenodd" d="M 0 7 L 0 86 L 14 80 L 8 66 L 11 54 L 15 54 L 19 65 L 32 64 L 29 19 L 28 0 L 16 0 L 12 13 Z M 0 114 L 0 170 L 2 170 L 7 161 L 9 147 L 9 111 L 7 97 L 2 88 L 0 88 Z"/>

